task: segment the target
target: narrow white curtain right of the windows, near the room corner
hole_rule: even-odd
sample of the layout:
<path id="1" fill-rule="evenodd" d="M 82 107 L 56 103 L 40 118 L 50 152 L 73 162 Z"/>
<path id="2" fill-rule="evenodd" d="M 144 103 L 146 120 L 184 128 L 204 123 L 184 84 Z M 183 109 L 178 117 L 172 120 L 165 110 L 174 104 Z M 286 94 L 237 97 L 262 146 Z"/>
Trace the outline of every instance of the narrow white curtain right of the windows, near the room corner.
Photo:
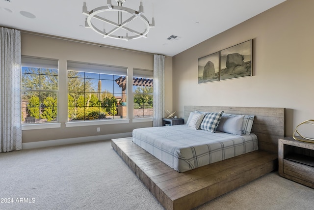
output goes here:
<path id="1" fill-rule="evenodd" d="M 161 126 L 164 113 L 164 69 L 165 56 L 154 55 L 154 127 Z"/>

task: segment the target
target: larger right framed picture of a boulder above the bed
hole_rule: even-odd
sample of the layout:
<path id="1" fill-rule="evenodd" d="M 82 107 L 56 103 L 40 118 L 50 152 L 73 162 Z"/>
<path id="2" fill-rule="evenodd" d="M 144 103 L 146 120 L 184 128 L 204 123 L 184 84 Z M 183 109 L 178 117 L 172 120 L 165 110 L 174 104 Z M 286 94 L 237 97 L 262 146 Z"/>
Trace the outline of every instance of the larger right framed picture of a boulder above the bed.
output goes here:
<path id="1" fill-rule="evenodd" d="M 252 39 L 220 51 L 220 80 L 252 76 Z"/>

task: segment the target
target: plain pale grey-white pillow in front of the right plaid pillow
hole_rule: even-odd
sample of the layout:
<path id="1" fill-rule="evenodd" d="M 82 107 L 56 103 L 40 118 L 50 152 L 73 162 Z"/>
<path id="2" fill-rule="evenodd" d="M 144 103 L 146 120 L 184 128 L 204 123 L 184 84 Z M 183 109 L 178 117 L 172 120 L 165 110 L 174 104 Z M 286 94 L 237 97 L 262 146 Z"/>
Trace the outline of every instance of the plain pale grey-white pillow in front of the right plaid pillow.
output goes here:
<path id="1" fill-rule="evenodd" d="M 218 124 L 217 131 L 240 136 L 242 134 L 243 119 L 244 119 L 244 115 L 235 116 L 235 117 L 222 116 Z"/>

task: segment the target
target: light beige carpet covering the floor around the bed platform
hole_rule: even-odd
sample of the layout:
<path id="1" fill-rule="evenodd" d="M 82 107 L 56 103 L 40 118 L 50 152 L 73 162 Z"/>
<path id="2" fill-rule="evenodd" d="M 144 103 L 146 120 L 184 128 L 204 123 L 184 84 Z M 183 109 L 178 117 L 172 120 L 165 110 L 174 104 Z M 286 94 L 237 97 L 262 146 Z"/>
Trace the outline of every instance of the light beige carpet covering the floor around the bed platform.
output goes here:
<path id="1" fill-rule="evenodd" d="M 0 153 L 0 199 L 0 210 L 163 210 L 110 141 Z M 273 172 L 196 209 L 313 210 L 314 189 Z"/>

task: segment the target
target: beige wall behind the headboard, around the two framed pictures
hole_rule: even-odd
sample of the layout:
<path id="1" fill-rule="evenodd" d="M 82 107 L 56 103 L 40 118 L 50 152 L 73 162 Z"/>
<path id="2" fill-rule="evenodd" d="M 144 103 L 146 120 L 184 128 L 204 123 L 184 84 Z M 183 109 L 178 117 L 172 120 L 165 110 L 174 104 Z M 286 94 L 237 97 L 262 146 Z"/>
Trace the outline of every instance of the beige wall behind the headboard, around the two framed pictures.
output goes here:
<path id="1" fill-rule="evenodd" d="M 173 57 L 173 109 L 285 107 L 286 134 L 314 119 L 314 1 L 287 0 Z M 210 26 L 208 26 L 210 27 Z M 198 84 L 197 60 L 253 39 L 253 77 Z M 313 126 L 300 129 L 313 135 Z"/>

